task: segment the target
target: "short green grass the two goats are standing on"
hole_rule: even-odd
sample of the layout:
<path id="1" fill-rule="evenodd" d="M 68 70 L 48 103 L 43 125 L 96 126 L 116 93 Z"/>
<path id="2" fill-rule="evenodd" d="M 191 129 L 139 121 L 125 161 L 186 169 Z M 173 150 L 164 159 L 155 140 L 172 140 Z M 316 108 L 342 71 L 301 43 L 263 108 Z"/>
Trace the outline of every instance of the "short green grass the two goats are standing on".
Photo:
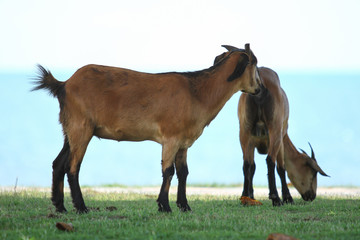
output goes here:
<path id="1" fill-rule="evenodd" d="M 193 211 L 157 212 L 156 195 L 84 192 L 92 209 L 76 214 L 65 194 L 66 214 L 54 212 L 49 192 L 0 192 L 0 239 L 266 239 L 280 232 L 299 239 L 359 239 L 359 198 L 295 199 L 294 205 L 243 207 L 238 197 L 189 196 Z M 107 207 L 116 207 L 109 211 Z M 72 223 L 62 232 L 57 222 Z"/>

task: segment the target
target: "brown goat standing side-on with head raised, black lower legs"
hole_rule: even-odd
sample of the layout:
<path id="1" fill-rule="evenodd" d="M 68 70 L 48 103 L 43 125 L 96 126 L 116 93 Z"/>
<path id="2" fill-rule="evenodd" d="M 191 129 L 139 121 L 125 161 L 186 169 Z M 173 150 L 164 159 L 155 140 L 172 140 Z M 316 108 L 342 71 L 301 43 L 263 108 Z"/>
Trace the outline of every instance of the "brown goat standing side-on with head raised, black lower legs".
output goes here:
<path id="1" fill-rule="evenodd" d="M 197 72 L 149 74 L 124 68 L 87 65 L 66 82 L 39 65 L 33 90 L 47 89 L 58 98 L 64 146 L 53 162 L 52 202 L 65 212 L 67 174 L 77 212 L 87 212 L 79 171 L 92 136 L 117 141 L 152 140 L 162 145 L 163 182 L 158 210 L 171 212 L 169 187 L 175 168 L 177 206 L 191 210 L 186 198 L 187 149 L 230 97 L 239 90 L 257 94 L 257 59 L 250 50 L 231 51 L 218 64 Z"/>

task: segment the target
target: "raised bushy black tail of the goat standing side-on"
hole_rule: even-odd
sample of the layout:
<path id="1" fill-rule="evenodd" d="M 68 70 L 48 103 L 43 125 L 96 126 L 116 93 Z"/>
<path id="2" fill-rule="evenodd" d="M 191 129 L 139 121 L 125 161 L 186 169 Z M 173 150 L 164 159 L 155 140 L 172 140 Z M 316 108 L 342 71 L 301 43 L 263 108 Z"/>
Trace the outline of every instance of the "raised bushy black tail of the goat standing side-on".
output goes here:
<path id="1" fill-rule="evenodd" d="M 38 75 L 34 78 L 34 84 L 36 86 L 31 91 L 46 89 L 54 97 L 60 98 L 64 93 L 65 83 L 56 80 L 51 72 L 40 64 L 38 64 L 37 67 Z"/>

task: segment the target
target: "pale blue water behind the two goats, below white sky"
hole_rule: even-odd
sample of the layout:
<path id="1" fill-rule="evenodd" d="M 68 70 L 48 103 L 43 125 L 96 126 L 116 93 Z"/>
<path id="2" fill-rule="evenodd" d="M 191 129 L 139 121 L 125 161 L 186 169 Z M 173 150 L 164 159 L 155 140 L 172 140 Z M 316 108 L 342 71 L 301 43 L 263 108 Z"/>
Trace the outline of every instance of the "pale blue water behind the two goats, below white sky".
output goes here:
<path id="1" fill-rule="evenodd" d="M 278 72 L 290 102 L 289 136 L 331 176 L 320 186 L 359 186 L 360 74 Z M 56 72 L 66 80 L 72 72 Z M 30 92 L 34 72 L 0 73 L 0 186 L 50 186 L 52 161 L 63 144 L 59 106 L 45 91 Z M 188 151 L 188 183 L 242 183 L 235 94 Z M 267 185 L 265 156 L 256 155 L 256 185 Z M 161 146 L 93 138 L 82 185 L 161 184 Z M 176 178 L 173 184 L 176 184 Z M 279 179 L 277 179 L 279 185 Z"/>

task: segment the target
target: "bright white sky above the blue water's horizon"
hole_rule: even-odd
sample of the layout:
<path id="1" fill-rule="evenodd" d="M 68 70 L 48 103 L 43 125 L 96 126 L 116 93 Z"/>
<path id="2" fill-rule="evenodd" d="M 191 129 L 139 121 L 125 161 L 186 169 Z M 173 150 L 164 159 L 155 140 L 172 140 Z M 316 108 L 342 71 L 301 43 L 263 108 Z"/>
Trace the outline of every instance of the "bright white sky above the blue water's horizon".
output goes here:
<path id="1" fill-rule="evenodd" d="M 0 1 L 0 69 L 206 68 L 250 43 L 276 69 L 357 70 L 357 0 Z"/>

